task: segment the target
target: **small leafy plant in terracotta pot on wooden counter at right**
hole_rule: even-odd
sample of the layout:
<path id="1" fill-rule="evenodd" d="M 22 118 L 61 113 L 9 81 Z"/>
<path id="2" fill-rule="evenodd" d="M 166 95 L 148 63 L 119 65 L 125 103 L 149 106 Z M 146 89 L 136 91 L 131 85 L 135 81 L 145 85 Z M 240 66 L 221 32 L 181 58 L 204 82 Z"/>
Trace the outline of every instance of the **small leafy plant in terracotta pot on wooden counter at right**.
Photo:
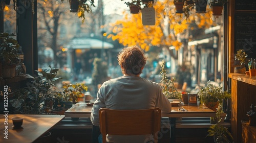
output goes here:
<path id="1" fill-rule="evenodd" d="M 248 60 L 246 59 L 248 55 L 245 53 L 243 49 L 237 51 L 236 56 L 234 56 L 234 60 L 240 61 L 240 66 L 234 68 L 234 73 L 242 73 L 245 74 L 245 71 L 248 71 Z"/>

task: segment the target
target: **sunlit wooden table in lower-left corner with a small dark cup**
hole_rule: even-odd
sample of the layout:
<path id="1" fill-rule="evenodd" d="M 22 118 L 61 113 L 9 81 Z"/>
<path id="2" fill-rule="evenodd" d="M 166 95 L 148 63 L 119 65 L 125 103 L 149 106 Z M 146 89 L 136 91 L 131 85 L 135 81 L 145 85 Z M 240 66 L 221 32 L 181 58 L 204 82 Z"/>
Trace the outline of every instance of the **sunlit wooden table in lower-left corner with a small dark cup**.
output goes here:
<path id="1" fill-rule="evenodd" d="M 12 117 L 23 117 L 23 128 L 13 129 Z M 27 114 L 8 114 L 8 119 L 1 114 L 0 117 L 0 142 L 33 142 L 42 134 L 50 130 L 55 124 L 64 118 L 65 115 L 27 115 Z M 7 122 L 5 122 L 7 121 Z M 8 123 L 5 125 L 4 123 Z M 8 132 L 6 130 L 6 126 Z M 5 134 L 8 133 L 8 139 L 5 138 Z"/>

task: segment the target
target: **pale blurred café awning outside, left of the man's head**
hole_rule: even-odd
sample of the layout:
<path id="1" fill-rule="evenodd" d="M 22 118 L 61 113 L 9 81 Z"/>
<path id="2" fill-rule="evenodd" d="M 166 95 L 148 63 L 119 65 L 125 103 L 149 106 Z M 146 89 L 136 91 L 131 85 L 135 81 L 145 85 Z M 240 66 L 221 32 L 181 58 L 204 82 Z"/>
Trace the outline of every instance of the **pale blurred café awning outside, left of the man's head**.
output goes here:
<path id="1" fill-rule="evenodd" d="M 109 42 L 102 42 L 102 40 L 93 38 L 73 38 L 67 47 L 68 49 L 102 49 L 102 46 L 104 49 L 111 49 L 114 47 Z"/>

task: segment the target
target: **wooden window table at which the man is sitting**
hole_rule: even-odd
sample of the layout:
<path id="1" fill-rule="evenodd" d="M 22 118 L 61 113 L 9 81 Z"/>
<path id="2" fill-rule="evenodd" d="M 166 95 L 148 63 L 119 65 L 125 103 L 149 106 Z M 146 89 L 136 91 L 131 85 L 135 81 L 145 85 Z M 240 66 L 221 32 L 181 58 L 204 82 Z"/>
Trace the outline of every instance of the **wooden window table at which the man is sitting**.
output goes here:
<path id="1" fill-rule="evenodd" d="M 188 111 L 179 110 L 178 106 L 172 107 L 172 112 L 162 113 L 162 117 L 169 117 L 170 123 L 170 142 L 175 142 L 176 135 L 176 117 L 214 117 L 216 113 L 204 106 L 200 105 L 183 105 L 180 104 L 183 108 Z M 77 103 L 72 108 L 65 112 L 66 117 L 90 117 L 91 116 L 92 106 L 87 106 L 86 103 Z M 94 127 L 94 126 L 93 126 Z"/>

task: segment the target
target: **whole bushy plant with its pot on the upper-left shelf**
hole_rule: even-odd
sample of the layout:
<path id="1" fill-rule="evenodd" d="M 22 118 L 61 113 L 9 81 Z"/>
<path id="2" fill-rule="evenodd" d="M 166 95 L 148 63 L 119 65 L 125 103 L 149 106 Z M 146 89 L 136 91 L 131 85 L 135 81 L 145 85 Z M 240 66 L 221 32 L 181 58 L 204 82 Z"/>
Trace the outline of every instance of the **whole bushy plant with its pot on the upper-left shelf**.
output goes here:
<path id="1" fill-rule="evenodd" d="M 16 36 L 14 33 L 0 33 L 0 62 L 2 66 L 3 78 L 15 77 L 15 67 L 19 61 L 18 41 L 11 36 Z"/>

